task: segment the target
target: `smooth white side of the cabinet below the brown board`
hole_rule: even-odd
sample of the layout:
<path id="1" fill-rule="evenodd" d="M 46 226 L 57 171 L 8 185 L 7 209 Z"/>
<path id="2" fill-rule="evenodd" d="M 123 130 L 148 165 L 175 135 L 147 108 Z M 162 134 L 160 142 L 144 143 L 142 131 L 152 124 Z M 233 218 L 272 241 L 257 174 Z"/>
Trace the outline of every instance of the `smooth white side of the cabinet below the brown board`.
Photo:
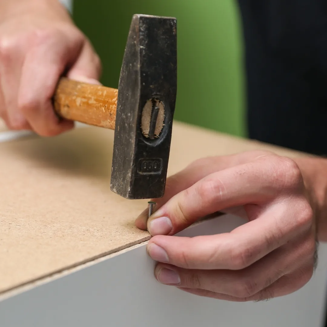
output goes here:
<path id="1" fill-rule="evenodd" d="M 226 215 L 181 234 L 226 232 L 239 224 Z M 142 246 L 0 302 L 0 326 L 322 327 L 326 245 L 319 254 L 319 267 L 301 290 L 267 302 L 234 303 L 159 284 Z"/>

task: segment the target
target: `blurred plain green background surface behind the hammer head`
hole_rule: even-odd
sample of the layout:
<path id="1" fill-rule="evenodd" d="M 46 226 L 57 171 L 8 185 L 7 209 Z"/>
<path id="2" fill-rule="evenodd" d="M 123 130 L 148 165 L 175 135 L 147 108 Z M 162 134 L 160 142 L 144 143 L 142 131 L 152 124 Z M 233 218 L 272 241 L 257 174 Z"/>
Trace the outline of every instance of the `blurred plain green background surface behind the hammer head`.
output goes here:
<path id="1" fill-rule="evenodd" d="M 132 15 L 176 17 L 175 119 L 246 136 L 242 31 L 234 0 L 76 0 L 73 13 L 102 60 L 102 83 L 115 88 Z"/>

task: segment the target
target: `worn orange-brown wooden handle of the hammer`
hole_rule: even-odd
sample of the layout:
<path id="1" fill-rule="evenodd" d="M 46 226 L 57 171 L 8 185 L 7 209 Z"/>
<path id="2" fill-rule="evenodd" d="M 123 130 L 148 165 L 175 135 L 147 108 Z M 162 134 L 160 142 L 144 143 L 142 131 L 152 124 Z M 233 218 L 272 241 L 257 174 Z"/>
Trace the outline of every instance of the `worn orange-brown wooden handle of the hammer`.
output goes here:
<path id="1" fill-rule="evenodd" d="M 62 118 L 115 129 L 118 90 L 62 77 L 54 95 Z"/>

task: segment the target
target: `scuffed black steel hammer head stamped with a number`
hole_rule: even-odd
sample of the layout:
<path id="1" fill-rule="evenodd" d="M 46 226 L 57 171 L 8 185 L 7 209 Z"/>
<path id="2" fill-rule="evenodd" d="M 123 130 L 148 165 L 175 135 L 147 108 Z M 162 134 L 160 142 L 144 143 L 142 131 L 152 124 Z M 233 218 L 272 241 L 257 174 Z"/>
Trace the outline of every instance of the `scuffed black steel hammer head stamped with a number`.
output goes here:
<path id="1" fill-rule="evenodd" d="M 134 15 L 118 86 L 113 192 L 128 199 L 163 196 L 176 93 L 176 19 Z"/>

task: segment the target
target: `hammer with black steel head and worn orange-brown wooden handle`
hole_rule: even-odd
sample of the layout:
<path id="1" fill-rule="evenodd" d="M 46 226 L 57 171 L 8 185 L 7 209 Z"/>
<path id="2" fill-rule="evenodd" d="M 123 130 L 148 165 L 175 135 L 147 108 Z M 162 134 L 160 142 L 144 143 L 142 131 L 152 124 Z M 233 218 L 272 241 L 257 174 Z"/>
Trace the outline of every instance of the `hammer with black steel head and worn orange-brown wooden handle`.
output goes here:
<path id="1" fill-rule="evenodd" d="M 118 90 L 62 77 L 53 103 L 59 117 L 114 129 L 114 193 L 128 199 L 161 198 L 176 93 L 176 18 L 134 15 Z"/>

